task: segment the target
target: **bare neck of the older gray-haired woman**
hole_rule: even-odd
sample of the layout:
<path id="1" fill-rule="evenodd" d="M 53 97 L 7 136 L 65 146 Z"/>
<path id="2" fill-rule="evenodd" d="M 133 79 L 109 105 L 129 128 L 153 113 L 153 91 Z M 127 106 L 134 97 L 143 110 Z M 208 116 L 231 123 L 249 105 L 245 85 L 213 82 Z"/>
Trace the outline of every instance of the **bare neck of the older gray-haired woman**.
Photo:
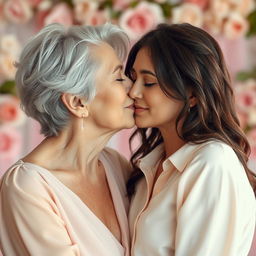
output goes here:
<path id="1" fill-rule="evenodd" d="M 99 154 L 113 134 L 113 131 L 106 132 L 90 125 L 86 125 L 83 130 L 68 127 L 58 136 L 46 138 L 24 160 L 32 159 L 50 170 L 72 170 L 89 174 L 97 168 Z"/>

